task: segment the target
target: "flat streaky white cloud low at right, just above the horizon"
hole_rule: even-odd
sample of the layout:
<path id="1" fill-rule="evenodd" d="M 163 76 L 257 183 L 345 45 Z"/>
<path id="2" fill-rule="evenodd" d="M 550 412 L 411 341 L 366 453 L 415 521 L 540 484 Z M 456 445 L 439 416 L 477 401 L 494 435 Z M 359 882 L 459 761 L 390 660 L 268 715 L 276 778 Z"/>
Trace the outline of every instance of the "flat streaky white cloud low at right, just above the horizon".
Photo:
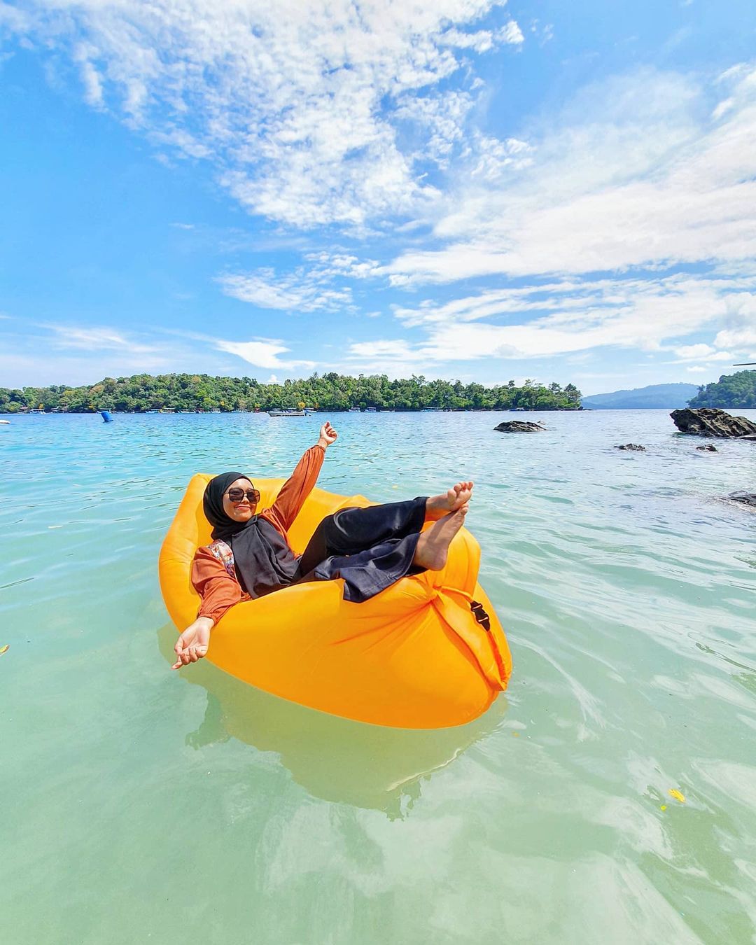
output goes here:
<path id="1" fill-rule="evenodd" d="M 425 303 L 417 310 L 397 308 L 398 318 L 426 332 L 424 341 L 409 345 L 382 339 L 352 345 L 350 354 L 404 360 L 414 356 L 438 363 L 554 357 L 609 347 L 663 352 L 670 340 L 715 331 L 727 322 L 740 311 L 743 297 L 750 297 L 745 289 L 753 283 L 676 275 L 653 281 L 570 281 L 490 291 L 438 306 Z M 530 320 L 509 323 L 524 312 Z M 491 324 L 486 320 L 490 318 L 505 318 L 507 323 Z M 683 361 L 730 361 L 732 354 L 719 343 L 727 337 L 720 335 L 714 345 L 679 345 L 675 353 Z"/>

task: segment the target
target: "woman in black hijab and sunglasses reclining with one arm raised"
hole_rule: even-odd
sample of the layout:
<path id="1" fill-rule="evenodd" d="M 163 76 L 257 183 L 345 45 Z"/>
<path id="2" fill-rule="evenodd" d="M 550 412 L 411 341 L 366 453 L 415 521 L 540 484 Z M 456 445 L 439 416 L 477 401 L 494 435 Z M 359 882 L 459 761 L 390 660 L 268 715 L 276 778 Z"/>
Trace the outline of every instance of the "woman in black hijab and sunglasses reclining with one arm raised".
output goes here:
<path id="1" fill-rule="evenodd" d="M 341 577 L 345 599 L 360 603 L 405 575 L 444 566 L 449 544 L 467 515 L 472 482 L 458 482 L 430 498 L 339 509 L 318 524 L 301 557 L 294 555 L 286 532 L 337 437 L 331 424 L 324 423 L 318 442 L 301 457 L 276 501 L 259 513 L 260 493 L 243 473 L 225 472 L 207 484 L 203 508 L 213 525 L 213 542 L 198 548 L 192 563 L 192 583 L 202 602 L 197 620 L 179 637 L 172 669 L 205 656 L 210 631 L 240 600 L 301 581 Z M 426 518 L 436 524 L 421 533 Z"/>

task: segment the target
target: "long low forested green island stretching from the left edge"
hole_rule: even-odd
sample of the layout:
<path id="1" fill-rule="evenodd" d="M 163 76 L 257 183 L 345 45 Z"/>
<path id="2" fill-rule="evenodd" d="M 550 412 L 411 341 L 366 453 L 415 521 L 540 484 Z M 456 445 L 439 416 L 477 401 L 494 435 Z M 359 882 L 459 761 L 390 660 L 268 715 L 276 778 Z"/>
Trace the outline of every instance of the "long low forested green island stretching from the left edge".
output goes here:
<path id="1" fill-rule="evenodd" d="M 209 411 L 271 410 L 312 407 L 318 410 L 577 410 L 580 391 L 573 384 L 548 386 L 526 380 L 486 387 L 461 381 L 427 381 L 413 374 L 390 381 L 386 374 L 350 377 L 314 373 L 283 384 L 259 384 L 251 377 L 208 374 L 134 374 L 106 377 L 92 387 L 0 387 L 0 413 L 93 413 L 113 410 Z"/>

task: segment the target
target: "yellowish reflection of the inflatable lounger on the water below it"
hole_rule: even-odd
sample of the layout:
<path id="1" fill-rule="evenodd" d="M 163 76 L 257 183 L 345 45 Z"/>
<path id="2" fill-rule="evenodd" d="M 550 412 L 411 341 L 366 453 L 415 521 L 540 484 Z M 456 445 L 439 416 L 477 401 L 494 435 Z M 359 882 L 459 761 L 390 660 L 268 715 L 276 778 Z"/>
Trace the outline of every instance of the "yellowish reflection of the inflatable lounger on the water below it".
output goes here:
<path id="1" fill-rule="evenodd" d="M 158 633 L 173 661 L 176 630 Z M 507 712 L 504 696 L 481 718 L 455 729 L 406 730 L 352 722 L 271 696 L 201 661 L 180 671 L 207 691 L 207 710 L 186 736 L 194 748 L 234 737 L 260 751 L 275 751 L 294 780 L 325 800 L 401 817 L 421 795 L 421 782 L 493 731 Z"/>

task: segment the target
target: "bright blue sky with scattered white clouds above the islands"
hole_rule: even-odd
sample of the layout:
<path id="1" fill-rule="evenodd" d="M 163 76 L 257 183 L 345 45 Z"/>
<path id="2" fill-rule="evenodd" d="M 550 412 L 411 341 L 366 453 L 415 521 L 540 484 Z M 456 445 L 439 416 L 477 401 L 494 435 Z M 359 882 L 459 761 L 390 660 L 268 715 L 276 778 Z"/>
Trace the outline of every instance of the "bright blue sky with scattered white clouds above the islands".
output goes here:
<path id="1" fill-rule="evenodd" d="M 0 386 L 756 361 L 752 0 L 0 0 Z"/>

